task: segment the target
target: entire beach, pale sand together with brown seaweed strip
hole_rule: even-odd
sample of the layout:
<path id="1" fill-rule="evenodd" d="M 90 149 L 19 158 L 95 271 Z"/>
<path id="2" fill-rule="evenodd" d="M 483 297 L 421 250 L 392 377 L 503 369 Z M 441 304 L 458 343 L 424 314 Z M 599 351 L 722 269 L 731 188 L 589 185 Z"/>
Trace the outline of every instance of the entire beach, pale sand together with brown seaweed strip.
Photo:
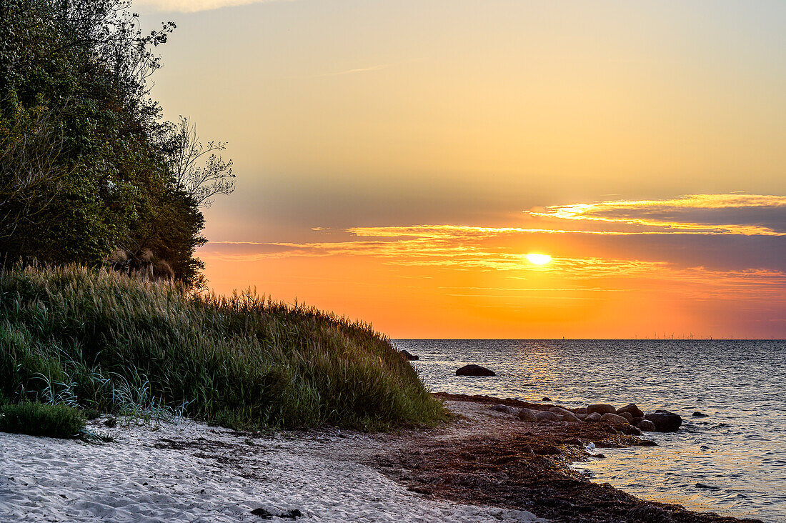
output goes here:
<path id="1" fill-rule="evenodd" d="M 648 502 L 594 484 L 571 463 L 642 445 L 598 423 L 521 422 L 491 404 L 435 395 L 434 429 L 237 432 L 185 418 L 84 444 L 0 433 L 0 519 L 11 521 L 759 521 Z M 642 450 L 645 451 L 645 450 Z"/>

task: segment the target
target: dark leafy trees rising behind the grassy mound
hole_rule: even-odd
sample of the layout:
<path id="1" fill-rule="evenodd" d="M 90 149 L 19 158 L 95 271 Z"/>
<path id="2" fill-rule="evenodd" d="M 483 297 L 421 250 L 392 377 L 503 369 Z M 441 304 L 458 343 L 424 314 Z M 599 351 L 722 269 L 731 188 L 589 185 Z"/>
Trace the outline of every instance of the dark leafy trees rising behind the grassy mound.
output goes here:
<path id="1" fill-rule="evenodd" d="M 98 265 L 151 249 L 193 284 L 200 204 L 231 192 L 231 161 L 183 157 L 225 144 L 161 120 L 147 79 L 174 24 L 143 34 L 129 7 L 0 0 L 0 256 Z"/>

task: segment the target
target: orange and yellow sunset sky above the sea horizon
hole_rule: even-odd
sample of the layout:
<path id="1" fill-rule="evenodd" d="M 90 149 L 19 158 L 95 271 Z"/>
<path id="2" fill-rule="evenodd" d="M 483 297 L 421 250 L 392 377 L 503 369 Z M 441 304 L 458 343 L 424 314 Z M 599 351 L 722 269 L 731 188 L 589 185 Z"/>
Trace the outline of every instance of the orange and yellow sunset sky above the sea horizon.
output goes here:
<path id="1" fill-rule="evenodd" d="M 786 2 L 134 9 L 178 25 L 165 116 L 229 142 L 217 293 L 391 338 L 786 337 Z"/>

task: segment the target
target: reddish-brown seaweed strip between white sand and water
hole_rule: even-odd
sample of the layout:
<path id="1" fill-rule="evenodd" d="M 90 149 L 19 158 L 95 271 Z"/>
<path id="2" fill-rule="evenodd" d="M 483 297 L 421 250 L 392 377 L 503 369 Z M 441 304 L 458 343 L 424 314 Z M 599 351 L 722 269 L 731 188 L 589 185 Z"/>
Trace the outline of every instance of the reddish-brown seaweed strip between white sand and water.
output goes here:
<path id="1" fill-rule="evenodd" d="M 522 422 L 511 414 L 491 411 L 494 405 L 545 411 L 551 403 L 502 400 L 440 392 L 451 411 L 471 427 L 452 436 L 425 436 L 409 448 L 391 451 L 377 466 L 415 492 L 461 503 L 494 503 L 530 510 L 549 521 L 674 523 L 758 522 L 678 504 L 651 502 L 611 484 L 589 481 L 571 464 L 593 456 L 586 445 L 650 447 L 646 436 L 620 433 L 605 423 Z M 642 449 L 645 452 L 646 449 Z"/>

